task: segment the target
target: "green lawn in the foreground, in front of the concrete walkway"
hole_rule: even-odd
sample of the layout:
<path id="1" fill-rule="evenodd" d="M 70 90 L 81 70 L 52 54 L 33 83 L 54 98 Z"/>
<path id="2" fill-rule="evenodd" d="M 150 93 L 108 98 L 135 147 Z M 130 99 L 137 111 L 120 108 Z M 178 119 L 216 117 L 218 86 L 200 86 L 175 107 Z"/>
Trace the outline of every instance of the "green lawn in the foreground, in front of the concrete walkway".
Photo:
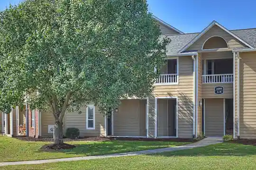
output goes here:
<path id="1" fill-rule="evenodd" d="M 255 170 L 256 146 L 223 143 L 154 155 L 1 168 L 2 170 Z"/>

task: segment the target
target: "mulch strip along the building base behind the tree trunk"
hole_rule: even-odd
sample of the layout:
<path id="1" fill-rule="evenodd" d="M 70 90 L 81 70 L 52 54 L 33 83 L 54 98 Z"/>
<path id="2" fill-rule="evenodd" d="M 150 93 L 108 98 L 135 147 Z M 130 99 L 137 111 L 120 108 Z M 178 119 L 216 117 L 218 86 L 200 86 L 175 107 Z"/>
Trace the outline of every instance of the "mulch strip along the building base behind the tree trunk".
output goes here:
<path id="1" fill-rule="evenodd" d="M 34 137 L 28 137 L 28 136 L 17 136 L 15 138 L 19 140 L 24 140 L 24 141 L 53 142 L 52 137 L 34 138 Z M 80 137 L 78 139 L 64 138 L 63 141 L 64 142 L 72 142 L 72 141 L 106 142 L 106 141 L 110 141 L 110 139 L 106 137 L 98 136 L 98 137 Z"/>

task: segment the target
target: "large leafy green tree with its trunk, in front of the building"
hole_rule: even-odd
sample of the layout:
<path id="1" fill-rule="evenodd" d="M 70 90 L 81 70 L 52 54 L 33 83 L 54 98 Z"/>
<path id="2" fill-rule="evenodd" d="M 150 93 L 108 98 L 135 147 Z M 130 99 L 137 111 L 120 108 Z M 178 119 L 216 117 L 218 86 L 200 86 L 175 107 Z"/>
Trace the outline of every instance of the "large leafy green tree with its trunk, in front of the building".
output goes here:
<path id="1" fill-rule="evenodd" d="M 0 109 L 50 108 L 62 143 L 68 110 L 152 92 L 167 40 L 146 0 L 25 0 L 0 12 Z M 27 97 L 28 96 L 28 97 Z M 26 100 L 26 101 L 25 101 Z"/>

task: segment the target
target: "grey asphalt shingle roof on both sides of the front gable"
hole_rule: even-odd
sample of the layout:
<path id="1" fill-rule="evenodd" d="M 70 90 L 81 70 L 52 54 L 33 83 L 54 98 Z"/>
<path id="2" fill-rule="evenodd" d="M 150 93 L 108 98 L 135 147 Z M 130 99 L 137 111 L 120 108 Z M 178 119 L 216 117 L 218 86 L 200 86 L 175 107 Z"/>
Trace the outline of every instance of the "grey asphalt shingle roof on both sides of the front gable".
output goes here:
<path id="1" fill-rule="evenodd" d="M 256 48 L 256 28 L 243 29 L 243 30 L 231 30 L 233 34 L 236 34 L 239 38 Z M 199 33 L 191 34 L 174 34 L 163 35 L 170 38 L 171 42 L 166 46 L 167 54 L 175 54 L 181 50 L 186 44 L 188 44 Z M 247 49 L 247 48 L 244 48 Z"/>

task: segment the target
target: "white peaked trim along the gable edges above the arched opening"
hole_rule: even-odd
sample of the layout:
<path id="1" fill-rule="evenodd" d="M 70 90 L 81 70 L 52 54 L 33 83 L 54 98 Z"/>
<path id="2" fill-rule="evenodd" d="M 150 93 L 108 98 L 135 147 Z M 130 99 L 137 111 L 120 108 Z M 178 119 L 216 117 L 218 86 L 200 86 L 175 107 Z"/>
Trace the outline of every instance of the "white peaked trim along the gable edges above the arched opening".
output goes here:
<path id="1" fill-rule="evenodd" d="M 210 30 L 210 28 L 212 28 L 213 26 L 219 26 L 219 28 L 221 28 L 222 30 L 226 31 L 228 34 L 232 35 L 233 37 L 235 37 L 236 39 L 238 39 L 240 42 L 243 42 L 245 45 L 247 45 L 249 48 L 253 48 L 253 46 L 251 46 L 250 44 L 248 44 L 246 41 L 244 41 L 243 39 L 241 39 L 240 37 L 238 37 L 236 34 L 232 33 L 231 31 L 229 31 L 227 28 L 225 28 L 224 26 L 221 26 L 219 23 L 217 23 L 216 21 L 212 21 L 210 23 L 209 26 L 207 26 L 206 28 L 204 28 L 202 30 L 201 33 L 197 34 L 190 42 L 188 42 L 181 50 L 178 51 L 178 53 L 183 52 L 185 50 L 187 50 L 194 42 L 196 42 L 202 35 L 204 35 L 208 30 Z"/>

